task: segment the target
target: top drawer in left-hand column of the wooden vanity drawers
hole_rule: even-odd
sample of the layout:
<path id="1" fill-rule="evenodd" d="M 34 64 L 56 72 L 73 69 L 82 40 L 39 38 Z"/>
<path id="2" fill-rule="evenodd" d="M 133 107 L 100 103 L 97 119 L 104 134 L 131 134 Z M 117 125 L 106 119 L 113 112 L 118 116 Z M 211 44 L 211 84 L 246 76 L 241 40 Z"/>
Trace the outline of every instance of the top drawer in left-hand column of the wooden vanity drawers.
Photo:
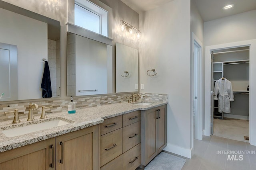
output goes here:
<path id="1" fill-rule="evenodd" d="M 104 123 L 100 124 L 100 135 L 112 132 L 122 127 L 122 115 L 105 119 Z"/>

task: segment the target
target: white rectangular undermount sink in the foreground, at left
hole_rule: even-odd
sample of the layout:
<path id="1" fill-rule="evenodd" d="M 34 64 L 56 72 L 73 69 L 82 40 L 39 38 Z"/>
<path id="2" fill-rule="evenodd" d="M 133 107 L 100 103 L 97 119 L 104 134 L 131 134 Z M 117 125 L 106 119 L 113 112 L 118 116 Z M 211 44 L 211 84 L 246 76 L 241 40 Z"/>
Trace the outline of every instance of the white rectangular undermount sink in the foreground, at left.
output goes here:
<path id="1" fill-rule="evenodd" d="M 69 123 L 70 122 L 68 122 L 68 121 L 55 119 L 55 120 L 50 120 L 50 121 L 38 122 L 38 123 L 32 124 L 32 125 L 25 125 L 25 126 L 21 126 L 21 127 L 14 127 L 12 129 L 6 129 L 6 130 L 3 130 L 2 133 L 4 133 L 4 135 L 6 135 L 6 137 L 15 137 L 15 136 L 24 135 L 27 133 L 50 129 L 52 127 L 66 125 Z"/>

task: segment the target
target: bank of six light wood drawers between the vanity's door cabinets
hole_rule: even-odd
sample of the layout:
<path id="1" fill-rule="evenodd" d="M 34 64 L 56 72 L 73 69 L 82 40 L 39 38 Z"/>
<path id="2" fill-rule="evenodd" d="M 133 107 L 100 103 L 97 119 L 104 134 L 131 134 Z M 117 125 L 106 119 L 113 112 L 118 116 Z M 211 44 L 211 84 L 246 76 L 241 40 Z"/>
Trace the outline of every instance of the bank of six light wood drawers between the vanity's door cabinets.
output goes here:
<path id="1" fill-rule="evenodd" d="M 119 129 L 100 136 L 100 170 L 135 170 L 140 166 L 140 114 L 140 111 L 134 111 L 104 121 L 106 125 L 118 127 L 114 123 L 118 124 L 121 120 L 122 126 Z M 100 134 L 102 134 L 102 131 L 106 131 L 106 125 L 100 126 Z M 118 142 L 121 142 L 120 149 L 118 149 Z M 108 144 L 106 145 L 106 143 Z M 111 151 L 114 149 L 117 151 Z"/>

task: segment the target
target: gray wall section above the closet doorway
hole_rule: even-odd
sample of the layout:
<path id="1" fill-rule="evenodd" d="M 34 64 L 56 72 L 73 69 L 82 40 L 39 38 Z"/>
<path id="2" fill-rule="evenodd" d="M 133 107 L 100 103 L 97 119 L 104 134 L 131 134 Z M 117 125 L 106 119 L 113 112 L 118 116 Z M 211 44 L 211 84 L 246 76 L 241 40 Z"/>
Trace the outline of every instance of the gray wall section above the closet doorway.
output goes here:
<path id="1" fill-rule="evenodd" d="M 256 39 L 256 10 L 204 23 L 204 46 Z"/>

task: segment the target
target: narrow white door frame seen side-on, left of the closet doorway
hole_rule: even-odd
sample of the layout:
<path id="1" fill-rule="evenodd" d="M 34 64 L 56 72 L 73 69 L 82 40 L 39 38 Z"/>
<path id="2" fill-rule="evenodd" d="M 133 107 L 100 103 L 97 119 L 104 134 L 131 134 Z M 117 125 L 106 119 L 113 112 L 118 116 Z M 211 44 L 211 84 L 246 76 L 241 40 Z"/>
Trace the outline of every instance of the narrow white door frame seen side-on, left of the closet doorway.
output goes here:
<path id="1" fill-rule="evenodd" d="M 191 113 L 191 129 L 192 129 L 192 135 L 191 135 L 191 141 L 192 141 L 192 146 L 193 146 L 193 141 L 194 139 L 202 140 L 202 135 L 203 135 L 203 45 L 201 41 L 196 37 L 196 35 L 192 32 L 192 42 L 191 42 L 191 51 L 192 51 L 192 66 L 191 66 L 191 77 L 192 77 L 192 83 L 191 83 L 191 92 L 192 92 L 192 113 Z M 196 56 L 197 59 L 194 59 L 194 47 L 198 49 L 198 55 Z M 194 61 L 196 60 L 197 62 L 197 68 L 194 68 Z M 197 78 L 195 80 L 194 78 L 194 71 L 196 71 Z M 196 81 L 197 86 L 194 87 L 194 81 Z M 197 99 L 195 102 L 195 107 L 197 108 L 197 113 L 193 113 L 193 106 L 194 106 L 194 91 L 197 91 Z M 195 119 L 195 120 L 194 120 Z M 193 147 L 194 148 L 194 147 Z"/>

